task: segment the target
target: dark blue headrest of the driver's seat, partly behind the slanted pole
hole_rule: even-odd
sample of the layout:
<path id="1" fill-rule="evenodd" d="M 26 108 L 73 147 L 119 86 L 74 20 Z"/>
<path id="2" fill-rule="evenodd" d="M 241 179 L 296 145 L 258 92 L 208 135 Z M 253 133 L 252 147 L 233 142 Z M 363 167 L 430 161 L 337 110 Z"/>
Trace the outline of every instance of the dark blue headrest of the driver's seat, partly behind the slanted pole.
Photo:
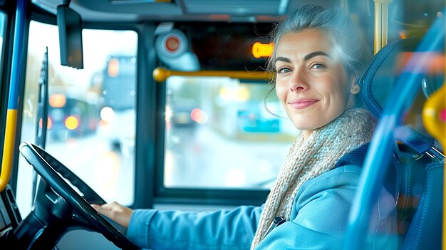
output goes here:
<path id="1" fill-rule="evenodd" d="M 400 72 L 420 41 L 420 38 L 405 38 L 388 43 L 375 54 L 373 61 L 358 80 L 363 104 L 376 118 L 380 118 L 383 113 Z M 419 153 L 425 153 L 432 146 L 437 147 L 437 142 L 422 125 L 421 113 L 422 104 L 431 93 L 440 88 L 444 76 L 424 75 L 422 78 L 420 88 L 414 90 L 418 95 L 413 110 L 408 111 L 402 124 L 395 130 L 396 140 L 404 142 Z"/>

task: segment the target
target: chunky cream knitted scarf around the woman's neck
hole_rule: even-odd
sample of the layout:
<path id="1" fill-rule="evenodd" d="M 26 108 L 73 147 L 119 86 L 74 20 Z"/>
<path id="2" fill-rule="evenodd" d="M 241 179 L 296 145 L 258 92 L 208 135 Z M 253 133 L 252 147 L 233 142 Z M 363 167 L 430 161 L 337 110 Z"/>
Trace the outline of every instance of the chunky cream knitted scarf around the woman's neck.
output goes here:
<path id="1" fill-rule="evenodd" d="M 332 170 L 343 155 L 369 142 L 375 125 L 373 115 L 356 108 L 314 130 L 306 140 L 300 133 L 266 199 L 251 249 L 263 239 L 274 217 L 290 219 L 294 198 L 302 184 Z"/>

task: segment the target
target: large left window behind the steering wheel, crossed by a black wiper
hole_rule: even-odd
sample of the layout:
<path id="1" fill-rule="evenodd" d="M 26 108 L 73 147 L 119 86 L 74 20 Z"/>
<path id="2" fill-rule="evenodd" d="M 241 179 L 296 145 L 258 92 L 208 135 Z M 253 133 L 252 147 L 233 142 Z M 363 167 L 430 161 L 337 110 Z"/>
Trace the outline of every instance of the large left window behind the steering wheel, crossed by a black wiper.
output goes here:
<path id="1" fill-rule="evenodd" d="M 135 31 L 83 30 L 84 68 L 61 66 L 57 26 L 31 21 L 21 141 L 34 142 L 38 80 L 48 47 L 46 150 L 105 200 L 133 204 Z M 32 167 L 19 162 L 20 211 L 29 212 Z"/>

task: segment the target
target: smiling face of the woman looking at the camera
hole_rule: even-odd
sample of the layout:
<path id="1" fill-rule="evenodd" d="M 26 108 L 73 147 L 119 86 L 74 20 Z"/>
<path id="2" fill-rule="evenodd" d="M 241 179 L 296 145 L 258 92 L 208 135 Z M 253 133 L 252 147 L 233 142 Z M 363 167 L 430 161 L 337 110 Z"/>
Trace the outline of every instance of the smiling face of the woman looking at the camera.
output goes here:
<path id="1" fill-rule="evenodd" d="M 358 92 L 339 53 L 317 29 L 286 33 L 277 44 L 275 68 L 276 95 L 304 137 L 341 115 L 352 105 L 350 93 Z"/>

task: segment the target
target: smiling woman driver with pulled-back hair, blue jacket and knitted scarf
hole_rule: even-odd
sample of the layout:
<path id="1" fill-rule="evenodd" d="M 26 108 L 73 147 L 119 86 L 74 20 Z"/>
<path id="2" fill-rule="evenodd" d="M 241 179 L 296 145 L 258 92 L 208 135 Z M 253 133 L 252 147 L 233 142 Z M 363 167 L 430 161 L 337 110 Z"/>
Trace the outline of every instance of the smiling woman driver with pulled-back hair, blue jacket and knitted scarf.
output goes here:
<path id="1" fill-rule="evenodd" d="M 150 249 L 340 249 L 361 168 L 340 161 L 367 145 L 375 119 L 354 108 L 359 75 L 370 51 L 341 9 L 303 6 L 272 33 L 269 69 L 276 95 L 299 130 L 261 207 L 215 212 L 93 205 L 128 227 L 128 238 Z M 357 152 L 357 151 L 356 151 Z M 360 150 L 358 152 L 365 152 Z M 393 230 L 395 199 L 385 190 L 370 224 L 372 244 Z M 383 200 L 383 199 L 380 199 Z M 375 209 L 378 211 L 378 209 Z M 373 245 L 375 244 L 375 245 Z"/>

